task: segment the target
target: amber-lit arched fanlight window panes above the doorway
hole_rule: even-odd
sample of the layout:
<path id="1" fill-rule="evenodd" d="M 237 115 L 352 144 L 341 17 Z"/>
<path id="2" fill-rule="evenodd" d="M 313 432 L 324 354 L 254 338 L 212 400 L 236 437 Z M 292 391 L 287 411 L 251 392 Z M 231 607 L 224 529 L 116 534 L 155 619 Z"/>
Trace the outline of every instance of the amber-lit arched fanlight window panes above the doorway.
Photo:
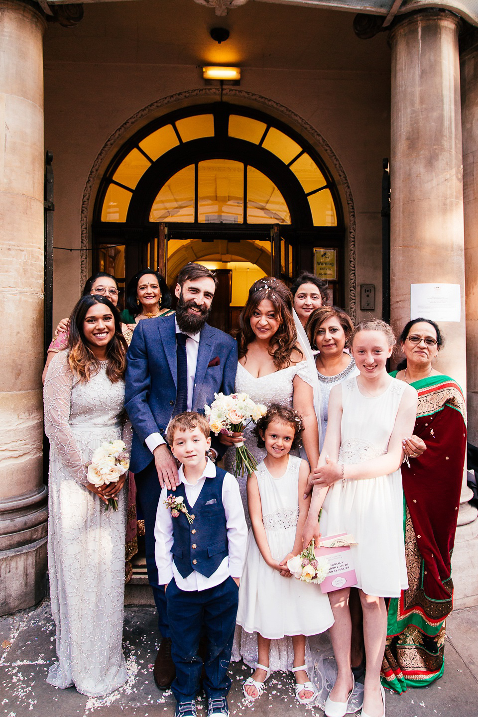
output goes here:
<path id="1" fill-rule="evenodd" d="M 147 136 L 138 138 L 133 148 L 130 144 L 128 154 L 114 162 L 105 177 L 99 207 L 101 222 L 127 222 L 130 201 L 145 172 L 157 162 L 167 168 L 168 153 L 173 156 L 187 143 L 211 141 L 219 131 L 216 125 L 213 113 L 185 116 L 151 130 Z M 269 121 L 236 113 L 227 117 L 224 127 L 231 141 L 260 147 L 262 156 L 272 156 L 290 173 L 291 181 L 298 181 L 307 198 L 305 206 L 308 203 L 312 226 L 338 226 L 333 183 L 311 149 L 300 144 L 300 137 L 288 136 Z M 179 169 L 162 186 L 159 184 L 158 194 L 150 205 L 149 221 L 291 224 L 291 214 L 273 176 L 267 176 L 247 161 L 205 158 Z"/>

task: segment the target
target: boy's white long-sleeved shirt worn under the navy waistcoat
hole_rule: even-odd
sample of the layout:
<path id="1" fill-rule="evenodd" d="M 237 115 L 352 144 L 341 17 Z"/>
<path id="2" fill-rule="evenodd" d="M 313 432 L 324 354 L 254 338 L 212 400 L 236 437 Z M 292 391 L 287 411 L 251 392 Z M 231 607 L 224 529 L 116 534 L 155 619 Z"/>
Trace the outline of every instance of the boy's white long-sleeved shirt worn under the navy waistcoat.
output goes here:
<path id="1" fill-rule="evenodd" d="M 201 493 L 201 489 L 206 478 L 215 478 L 216 466 L 207 459 L 204 474 L 199 478 L 196 485 L 188 483 L 184 476 L 183 465 L 179 468 L 179 479 L 184 484 L 184 490 L 189 505 L 193 508 L 194 503 Z M 156 540 L 155 554 L 156 565 L 158 566 L 158 582 L 160 585 L 166 585 L 175 579 L 179 589 L 191 592 L 193 590 L 206 590 L 221 584 L 229 577 L 240 578 L 244 567 L 244 559 L 246 556 L 247 542 L 247 524 L 244 518 L 244 508 L 242 507 L 241 494 L 239 493 L 239 484 L 234 475 L 226 473 L 222 483 L 222 504 L 226 513 L 227 540 L 229 543 L 228 555 L 219 565 L 219 568 L 208 578 L 205 575 L 193 570 L 186 578 L 179 573 L 173 562 L 171 549 L 173 547 L 173 518 L 171 511 L 166 508 L 163 501 L 168 498 L 168 489 L 161 490 L 161 496 L 158 503 L 158 512 L 156 513 L 156 524 L 154 526 L 154 537 Z M 194 527 L 194 523 L 192 525 Z M 191 536 L 191 539 L 193 536 Z M 201 537 L 198 536 L 198 541 Z"/>

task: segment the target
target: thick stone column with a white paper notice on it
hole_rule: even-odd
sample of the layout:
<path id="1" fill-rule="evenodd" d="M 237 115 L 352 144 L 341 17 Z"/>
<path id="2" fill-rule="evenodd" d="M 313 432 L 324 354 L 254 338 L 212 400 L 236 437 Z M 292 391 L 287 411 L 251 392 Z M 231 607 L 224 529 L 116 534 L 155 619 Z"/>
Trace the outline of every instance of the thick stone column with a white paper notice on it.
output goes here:
<path id="1" fill-rule="evenodd" d="M 411 284 L 460 285 L 462 320 L 440 322 L 446 348 L 436 368 L 466 391 L 459 27 L 457 16 L 430 10 L 407 15 L 391 32 L 391 315 L 401 330 L 410 318 Z M 453 561 L 462 605 L 478 595 L 470 497 L 465 472 Z"/>

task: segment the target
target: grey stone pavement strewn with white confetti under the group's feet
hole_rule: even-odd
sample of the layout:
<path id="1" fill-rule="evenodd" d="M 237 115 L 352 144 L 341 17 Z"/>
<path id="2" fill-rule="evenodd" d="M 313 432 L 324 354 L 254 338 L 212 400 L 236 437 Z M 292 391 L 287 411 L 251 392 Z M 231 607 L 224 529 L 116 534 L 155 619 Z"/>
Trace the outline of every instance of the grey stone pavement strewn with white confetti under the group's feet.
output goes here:
<path id="1" fill-rule="evenodd" d="M 476 717 L 478 715 L 478 607 L 453 612 L 447 625 L 444 678 L 429 688 L 396 695 L 387 690 L 387 717 Z M 173 717 L 170 692 L 158 692 L 151 673 L 156 656 L 155 609 L 125 609 L 123 647 L 128 682 L 105 698 L 87 698 L 74 688 L 57 690 L 45 682 L 55 659 L 54 624 L 49 602 L 0 617 L 0 717 Z M 322 717 L 319 708 L 300 706 L 292 675 L 274 673 L 267 691 L 252 707 L 242 699 L 250 674 L 242 663 L 231 666 L 231 717 Z M 199 717 L 205 717 L 204 702 Z"/>

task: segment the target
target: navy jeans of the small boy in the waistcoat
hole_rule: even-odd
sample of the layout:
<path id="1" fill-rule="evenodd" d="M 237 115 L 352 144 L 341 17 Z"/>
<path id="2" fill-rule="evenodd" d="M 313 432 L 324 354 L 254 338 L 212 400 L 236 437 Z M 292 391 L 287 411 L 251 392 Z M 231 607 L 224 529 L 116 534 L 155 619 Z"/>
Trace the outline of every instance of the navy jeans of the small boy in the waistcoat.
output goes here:
<path id="1" fill-rule="evenodd" d="M 207 698 L 225 697 L 231 687 L 228 675 L 236 627 L 239 588 L 231 577 L 216 587 L 187 592 L 174 578 L 166 589 L 171 655 L 176 680 L 171 689 L 178 702 L 196 699 L 203 663 L 199 640 L 207 644 L 204 692 Z"/>

